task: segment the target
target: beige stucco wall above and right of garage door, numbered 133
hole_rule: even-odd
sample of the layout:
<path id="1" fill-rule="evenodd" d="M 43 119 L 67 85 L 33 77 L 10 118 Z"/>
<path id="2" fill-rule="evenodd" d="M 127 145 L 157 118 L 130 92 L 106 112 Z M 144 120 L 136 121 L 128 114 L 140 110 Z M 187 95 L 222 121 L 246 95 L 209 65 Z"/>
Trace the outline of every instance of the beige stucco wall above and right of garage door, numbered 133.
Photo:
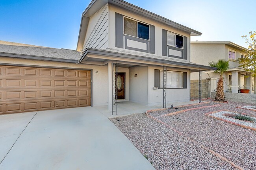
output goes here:
<path id="1" fill-rule="evenodd" d="M 1 57 L 0 65 L 26 65 L 31 67 L 54 67 L 54 68 L 74 68 L 92 69 L 92 99 L 93 106 L 108 104 L 108 66 L 85 65 L 76 63 L 64 63 L 58 61 L 41 61 L 32 59 L 21 59 L 12 57 Z"/>

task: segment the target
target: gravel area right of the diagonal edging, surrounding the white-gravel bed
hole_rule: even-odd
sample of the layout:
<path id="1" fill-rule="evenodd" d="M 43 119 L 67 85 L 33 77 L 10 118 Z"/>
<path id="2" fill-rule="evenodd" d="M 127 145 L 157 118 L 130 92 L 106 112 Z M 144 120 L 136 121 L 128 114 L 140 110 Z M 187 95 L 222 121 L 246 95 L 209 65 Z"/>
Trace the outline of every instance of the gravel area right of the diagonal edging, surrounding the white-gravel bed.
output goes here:
<path id="1" fill-rule="evenodd" d="M 209 104 L 213 105 L 216 102 Z M 255 115 L 255 111 L 236 108 L 237 106 L 246 105 L 246 103 L 229 102 L 220 104 L 219 107 L 192 110 L 173 116 L 158 117 L 158 119 L 244 169 L 256 170 L 256 131 L 204 115 L 208 112 L 223 109 L 248 115 Z M 150 115 L 153 114 L 150 113 Z"/>

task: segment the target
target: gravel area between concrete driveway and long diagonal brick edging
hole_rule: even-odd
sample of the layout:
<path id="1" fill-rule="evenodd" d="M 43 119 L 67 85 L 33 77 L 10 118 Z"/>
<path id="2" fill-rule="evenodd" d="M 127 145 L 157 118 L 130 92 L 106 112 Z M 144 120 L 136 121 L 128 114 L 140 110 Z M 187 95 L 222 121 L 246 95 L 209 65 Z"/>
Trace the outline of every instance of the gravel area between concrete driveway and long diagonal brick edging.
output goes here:
<path id="1" fill-rule="evenodd" d="M 145 113 L 110 119 L 156 170 L 232 170 L 219 157 L 148 118 Z"/>

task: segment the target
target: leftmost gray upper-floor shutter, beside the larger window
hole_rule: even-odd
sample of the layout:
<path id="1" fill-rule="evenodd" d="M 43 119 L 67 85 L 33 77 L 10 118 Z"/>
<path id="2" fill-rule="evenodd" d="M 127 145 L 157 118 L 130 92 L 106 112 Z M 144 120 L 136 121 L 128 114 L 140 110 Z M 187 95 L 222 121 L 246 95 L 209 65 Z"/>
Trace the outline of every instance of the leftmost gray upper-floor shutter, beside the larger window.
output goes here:
<path id="1" fill-rule="evenodd" d="M 124 19 L 123 15 L 115 13 L 115 46 L 118 48 L 124 48 Z"/>

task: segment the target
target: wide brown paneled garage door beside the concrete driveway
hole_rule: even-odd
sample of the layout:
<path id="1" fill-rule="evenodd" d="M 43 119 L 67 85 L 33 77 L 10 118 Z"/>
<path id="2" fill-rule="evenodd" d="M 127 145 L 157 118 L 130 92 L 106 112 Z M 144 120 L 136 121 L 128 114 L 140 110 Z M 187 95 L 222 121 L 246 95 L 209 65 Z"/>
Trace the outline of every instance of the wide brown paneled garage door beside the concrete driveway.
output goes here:
<path id="1" fill-rule="evenodd" d="M 0 66 L 0 114 L 91 105 L 91 71 Z"/>

